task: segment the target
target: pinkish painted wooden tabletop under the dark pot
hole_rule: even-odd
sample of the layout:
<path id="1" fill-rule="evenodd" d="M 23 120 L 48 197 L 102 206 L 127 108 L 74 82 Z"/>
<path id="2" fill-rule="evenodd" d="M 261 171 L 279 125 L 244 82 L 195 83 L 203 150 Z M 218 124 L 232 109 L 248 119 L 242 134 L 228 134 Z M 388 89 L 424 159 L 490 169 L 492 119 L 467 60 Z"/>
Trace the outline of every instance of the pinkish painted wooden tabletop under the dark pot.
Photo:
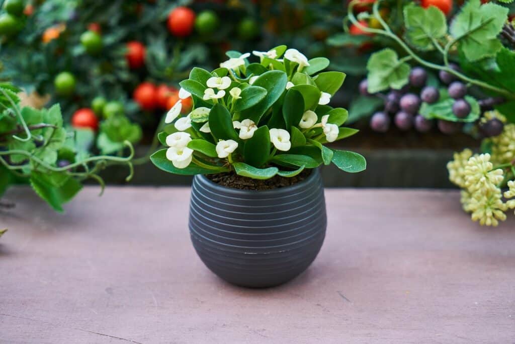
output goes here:
<path id="1" fill-rule="evenodd" d="M 2 343 L 514 343 L 515 221 L 457 191 L 328 189 L 315 263 L 273 289 L 203 266 L 189 189 L 86 188 L 65 215 L 28 189 L 0 213 Z"/>

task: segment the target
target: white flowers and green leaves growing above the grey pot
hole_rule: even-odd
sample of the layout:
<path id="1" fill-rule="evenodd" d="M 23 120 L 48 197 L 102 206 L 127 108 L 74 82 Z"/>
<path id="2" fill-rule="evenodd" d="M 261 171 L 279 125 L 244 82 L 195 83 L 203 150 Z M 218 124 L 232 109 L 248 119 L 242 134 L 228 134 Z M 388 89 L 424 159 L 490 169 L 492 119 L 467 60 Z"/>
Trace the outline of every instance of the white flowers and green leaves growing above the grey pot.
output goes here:
<path id="1" fill-rule="evenodd" d="M 321 72 L 328 59 L 308 60 L 284 45 L 252 52 L 259 62 L 249 62 L 250 53 L 227 55 L 220 68 L 194 68 L 180 83 L 159 135 L 168 148 L 152 155 L 155 165 L 171 173 L 234 171 L 261 179 L 322 163 L 348 172 L 365 168 L 361 155 L 324 146 L 357 132 L 341 126 L 347 110 L 328 105 L 345 79 Z M 190 96 L 194 107 L 183 115 L 182 100 Z"/>

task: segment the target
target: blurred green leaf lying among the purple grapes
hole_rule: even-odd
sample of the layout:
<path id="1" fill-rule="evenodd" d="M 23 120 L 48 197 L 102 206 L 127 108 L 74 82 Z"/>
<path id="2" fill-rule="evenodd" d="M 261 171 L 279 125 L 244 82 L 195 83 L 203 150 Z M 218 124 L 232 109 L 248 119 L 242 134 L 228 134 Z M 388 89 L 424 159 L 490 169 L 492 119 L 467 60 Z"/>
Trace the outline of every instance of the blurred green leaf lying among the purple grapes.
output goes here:
<path id="1" fill-rule="evenodd" d="M 457 118 L 452 111 L 454 99 L 442 99 L 434 104 L 423 103 L 419 113 L 428 119 L 439 119 L 451 122 L 474 122 L 479 118 L 480 109 L 477 101 L 470 95 L 465 96 L 465 100 L 470 104 L 471 111 L 465 118 Z"/>

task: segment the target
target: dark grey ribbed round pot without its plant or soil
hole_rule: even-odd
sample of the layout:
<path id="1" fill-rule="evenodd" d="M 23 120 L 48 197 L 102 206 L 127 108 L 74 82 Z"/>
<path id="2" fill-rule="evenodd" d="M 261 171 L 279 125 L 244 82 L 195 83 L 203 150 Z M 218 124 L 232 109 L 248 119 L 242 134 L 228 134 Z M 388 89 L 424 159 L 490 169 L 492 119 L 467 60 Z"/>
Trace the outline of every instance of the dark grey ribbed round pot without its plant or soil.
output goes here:
<path id="1" fill-rule="evenodd" d="M 245 287 L 285 283 L 317 256 L 327 216 L 318 170 L 293 186 L 238 190 L 196 175 L 190 234 L 200 259 L 222 279 Z"/>

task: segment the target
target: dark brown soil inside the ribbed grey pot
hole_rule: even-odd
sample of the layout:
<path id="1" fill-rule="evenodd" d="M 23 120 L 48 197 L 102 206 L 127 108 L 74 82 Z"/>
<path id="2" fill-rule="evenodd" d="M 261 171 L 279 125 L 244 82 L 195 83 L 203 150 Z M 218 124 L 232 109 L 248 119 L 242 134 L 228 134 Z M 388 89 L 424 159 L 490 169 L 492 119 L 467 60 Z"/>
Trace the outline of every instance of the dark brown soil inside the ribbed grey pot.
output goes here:
<path id="1" fill-rule="evenodd" d="M 208 174 L 206 177 L 212 182 L 228 188 L 241 189 L 241 190 L 271 190 L 291 186 L 302 182 L 305 178 L 311 175 L 311 170 L 304 170 L 297 174 L 295 177 L 287 178 L 275 175 L 270 179 L 252 179 L 250 177 L 243 177 L 234 172 L 224 172 L 217 174 Z"/>

